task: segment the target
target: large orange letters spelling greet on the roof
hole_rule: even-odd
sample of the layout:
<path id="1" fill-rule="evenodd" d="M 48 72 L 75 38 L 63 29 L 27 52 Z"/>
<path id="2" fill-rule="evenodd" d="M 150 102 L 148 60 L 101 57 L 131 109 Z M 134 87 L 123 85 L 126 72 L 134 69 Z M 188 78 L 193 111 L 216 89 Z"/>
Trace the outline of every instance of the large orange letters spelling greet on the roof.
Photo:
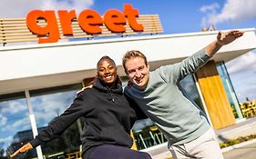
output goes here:
<path id="1" fill-rule="evenodd" d="M 73 35 L 72 20 L 77 18 L 75 10 L 59 10 L 57 12 L 63 35 Z M 117 9 L 109 9 L 102 17 L 97 11 L 86 9 L 78 15 L 78 25 L 87 34 L 101 34 L 100 25 L 105 24 L 113 33 L 123 33 L 126 31 L 125 25 L 128 25 L 136 32 L 143 31 L 144 27 L 137 22 L 138 9 L 134 9 L 132 5 L 124 5 L 123 13 Z M 38 25 L 38 19 L 45 19 L 46 25 Z M 57 25 L 55 11 L 52 10 L 33 10 L 26 15 L 26 25 L 28 29 L 36 35 L 47 35 L 47 37 L 39 37 L 38 43 L 55 43 L 60 38 Z"/>

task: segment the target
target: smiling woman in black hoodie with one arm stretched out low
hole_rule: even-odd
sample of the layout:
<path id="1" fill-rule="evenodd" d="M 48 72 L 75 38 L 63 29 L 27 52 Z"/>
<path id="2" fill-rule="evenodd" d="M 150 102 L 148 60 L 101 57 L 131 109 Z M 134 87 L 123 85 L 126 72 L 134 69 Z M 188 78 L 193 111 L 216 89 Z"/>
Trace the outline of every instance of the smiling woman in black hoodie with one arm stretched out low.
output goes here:
<path id="1" fill-rule="evenodd" d="M 149 154 L 129 148 L 133 143 L 129 132 L 136 114 L 123 94 L 117 71 L 115 62 L 103 56 L 97 62 L 97 76 L 92 86 L 79 93 L 63 114 L 11 157 L 46 144 L 82 116 L 85 125 L 80 139 L 84 159 L 150 159 Z"/>

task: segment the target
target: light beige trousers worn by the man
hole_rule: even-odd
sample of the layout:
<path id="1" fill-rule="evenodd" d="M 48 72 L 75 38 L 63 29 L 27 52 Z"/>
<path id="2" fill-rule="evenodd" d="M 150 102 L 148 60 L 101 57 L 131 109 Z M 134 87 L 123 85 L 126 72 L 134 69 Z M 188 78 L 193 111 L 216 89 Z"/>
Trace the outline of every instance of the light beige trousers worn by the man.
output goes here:
<path id="1" fill-rule="evenodd" d="M 189 143 L 171 145 L 169 151 L 175 159 L 223 159 L 212 129 Z"/>

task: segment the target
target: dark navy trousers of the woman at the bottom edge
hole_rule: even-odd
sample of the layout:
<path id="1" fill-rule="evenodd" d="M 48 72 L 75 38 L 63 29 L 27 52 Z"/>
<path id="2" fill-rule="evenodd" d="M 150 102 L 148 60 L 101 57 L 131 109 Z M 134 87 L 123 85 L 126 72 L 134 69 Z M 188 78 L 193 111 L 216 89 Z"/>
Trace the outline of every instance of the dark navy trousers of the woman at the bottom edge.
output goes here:
<path id="1" fill-rule="evenodd" d="M 99 145 L 83 154 L 83 159 L 152 159 L 148 153 L 118 145 Z"/>

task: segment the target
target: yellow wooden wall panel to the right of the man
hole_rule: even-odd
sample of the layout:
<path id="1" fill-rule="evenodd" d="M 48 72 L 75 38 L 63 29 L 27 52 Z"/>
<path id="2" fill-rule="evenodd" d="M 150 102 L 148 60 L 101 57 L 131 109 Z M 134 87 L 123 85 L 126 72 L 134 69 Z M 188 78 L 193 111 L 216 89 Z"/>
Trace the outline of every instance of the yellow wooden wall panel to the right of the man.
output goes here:
<path id="1" fill-rule="evenodd" d="M 210 61 L 201 67 L 196 76 L 214 129 L 235 124 L 235 117 L 215 63 Z"/>

